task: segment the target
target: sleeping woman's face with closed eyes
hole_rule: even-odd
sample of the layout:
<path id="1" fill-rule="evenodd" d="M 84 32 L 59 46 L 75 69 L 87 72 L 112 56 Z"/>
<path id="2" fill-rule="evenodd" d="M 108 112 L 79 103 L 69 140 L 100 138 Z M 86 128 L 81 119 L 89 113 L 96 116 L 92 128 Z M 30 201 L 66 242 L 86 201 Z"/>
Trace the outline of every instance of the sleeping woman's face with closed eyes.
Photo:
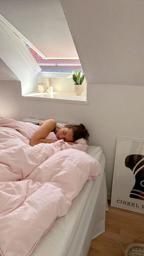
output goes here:
<path id="1" fill-rule="evenodd" d="M 63 141 L 73 142 L 73 131 L 69 128 L 63 127 L 56 132 L 57 139 L 63 139 Z"/>

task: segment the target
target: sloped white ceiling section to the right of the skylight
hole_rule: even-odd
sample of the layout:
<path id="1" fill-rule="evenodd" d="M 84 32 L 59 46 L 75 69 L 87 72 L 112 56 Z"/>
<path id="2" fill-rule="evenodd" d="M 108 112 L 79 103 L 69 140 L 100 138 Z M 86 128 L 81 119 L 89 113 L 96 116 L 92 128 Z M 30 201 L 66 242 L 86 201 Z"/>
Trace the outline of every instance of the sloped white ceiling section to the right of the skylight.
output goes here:
<path id="1" fill-rule="evenodd" d="M 144 85 L 144 1 L 60 0 L 88 84 Z"/>

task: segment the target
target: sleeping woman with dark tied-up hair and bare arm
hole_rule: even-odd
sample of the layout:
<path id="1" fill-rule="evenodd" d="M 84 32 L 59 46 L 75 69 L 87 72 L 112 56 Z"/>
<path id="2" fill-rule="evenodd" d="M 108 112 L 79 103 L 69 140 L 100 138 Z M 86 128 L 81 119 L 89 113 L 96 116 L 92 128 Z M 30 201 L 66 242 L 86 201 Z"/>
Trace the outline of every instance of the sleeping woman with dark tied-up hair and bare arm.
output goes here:
<path id="1" fill-rule="evenodd" d="M 30 145 L 34 146 L 40 143 L 53 143 L 63 139 L 68 144 L 74 144 L 77 139 L 88 139 L 88 131 L 82 123 L 80 125 L 65 125 L 60 127 L 57 125 L 56 120 L 48 119 L 38 123 L 40 127 L 33 134 L 30 140 Z M 57 139 L 46 139 L 49 133 L 53 131 Z"/>

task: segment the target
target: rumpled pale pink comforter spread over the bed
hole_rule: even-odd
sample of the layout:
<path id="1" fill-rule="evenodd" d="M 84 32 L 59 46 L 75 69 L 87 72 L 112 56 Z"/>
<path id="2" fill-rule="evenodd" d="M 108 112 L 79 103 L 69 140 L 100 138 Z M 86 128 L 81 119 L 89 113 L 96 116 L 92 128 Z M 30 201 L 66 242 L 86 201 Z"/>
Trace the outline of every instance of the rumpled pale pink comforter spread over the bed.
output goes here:
<path id="1" fill-rule="evenodd" d="M 30 255 L 101 165 L 85 141 L 29 145 L 38 126 L 0 119 L 0 255 Z M 54 134 L 49 134 L 54 138 Z M 65 150 L 67 149 L 67 150 Z"/>

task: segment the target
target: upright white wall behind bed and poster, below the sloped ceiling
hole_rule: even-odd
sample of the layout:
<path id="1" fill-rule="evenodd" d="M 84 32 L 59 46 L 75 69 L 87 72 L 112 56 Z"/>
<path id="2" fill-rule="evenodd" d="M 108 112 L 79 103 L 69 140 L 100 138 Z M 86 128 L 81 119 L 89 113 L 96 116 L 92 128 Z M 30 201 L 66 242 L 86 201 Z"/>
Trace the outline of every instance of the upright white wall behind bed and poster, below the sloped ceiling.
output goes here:
<path id="1" fill-rule="evenodd" d="M 26 100 L 20 92 L 20 83 L 0 81 L 0 116 L 84 123 L 90 132 L 88 144 L 101 145 L 106 155 L 110 194 L 117 137 L 143 139 L 144 87 L 89 84 L 88 105 Z"/>

